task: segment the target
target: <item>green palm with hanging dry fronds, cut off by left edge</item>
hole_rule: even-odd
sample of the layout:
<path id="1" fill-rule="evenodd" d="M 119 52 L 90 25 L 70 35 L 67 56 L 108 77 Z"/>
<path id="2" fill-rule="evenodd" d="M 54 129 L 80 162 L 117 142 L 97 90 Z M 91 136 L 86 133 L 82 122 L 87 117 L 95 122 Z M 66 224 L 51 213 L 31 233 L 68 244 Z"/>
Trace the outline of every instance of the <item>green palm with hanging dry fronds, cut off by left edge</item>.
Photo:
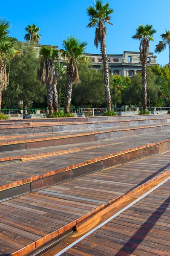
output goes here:
<path id="1" fill-rule="evenodd" d="M 9 83 L 9 73 L 6 73 L 6 61 L 16 54 L 14 49 L 15 40 L 9 38 L 11 24 L 8 20 L 0 19 L 0 110 L 2 102 L 2 90 L 6 90 Z"/>

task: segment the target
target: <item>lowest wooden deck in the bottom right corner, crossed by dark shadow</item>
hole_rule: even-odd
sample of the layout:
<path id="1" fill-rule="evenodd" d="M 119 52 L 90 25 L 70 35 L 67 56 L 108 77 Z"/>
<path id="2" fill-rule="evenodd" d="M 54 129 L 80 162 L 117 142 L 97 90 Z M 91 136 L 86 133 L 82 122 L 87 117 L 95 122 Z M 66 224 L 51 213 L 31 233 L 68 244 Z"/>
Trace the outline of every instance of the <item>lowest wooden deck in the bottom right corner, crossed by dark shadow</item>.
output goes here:
<path id="1" fill-rule="evenodd" d="M 61 254 L 104 255 L 170 255 L 170 180 Z"/>

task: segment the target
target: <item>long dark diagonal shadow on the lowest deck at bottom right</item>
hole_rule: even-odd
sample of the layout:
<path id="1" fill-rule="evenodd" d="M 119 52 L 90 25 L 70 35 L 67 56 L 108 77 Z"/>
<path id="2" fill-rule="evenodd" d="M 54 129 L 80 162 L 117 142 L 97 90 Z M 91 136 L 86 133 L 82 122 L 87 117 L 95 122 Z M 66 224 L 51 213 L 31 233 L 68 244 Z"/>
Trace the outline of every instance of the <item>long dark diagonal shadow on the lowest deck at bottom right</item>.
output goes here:
<path id="1" fill-rule="evenodd" d="M 136 231 L 136 233 L 129 239 L 129 241 L 127 241 L 127 243 L 124 244 L 124 246 L 118 251 L 118 253 L 115 254 L 115 256 L 127 255 L 127 253 L 129 253 L 129 255 L 132 254 L 137 249 L 138 245 L 145 239 L 145 237 L 148 235 L 150 230 L 154 227 L 154 225 L 159 220 L 161 215 L 164 214 L 169 204 L 170 204 L 170 197 L 167 198 L 156 209 L 155 212 L 153 212 L 153 214 L 147 219 L 147 221 L 144 222 L 144 224 Z M 123 252 L 124 254 L 122 254 Z"/>

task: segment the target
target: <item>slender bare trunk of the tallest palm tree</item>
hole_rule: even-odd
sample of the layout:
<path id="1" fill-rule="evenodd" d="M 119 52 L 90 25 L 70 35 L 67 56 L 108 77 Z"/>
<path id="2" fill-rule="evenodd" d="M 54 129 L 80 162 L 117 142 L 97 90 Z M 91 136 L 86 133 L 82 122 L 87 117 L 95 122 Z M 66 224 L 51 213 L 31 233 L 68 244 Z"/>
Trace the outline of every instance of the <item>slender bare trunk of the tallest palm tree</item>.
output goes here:
<path id="1" fill-rule="evenodd" d="M 111 97 L 110 97 L 110 87 L 109 87 L 109 66 L 107 61 L 107 50 L 105 38 L 101 40 L 101 53 L 102 60 L 104 65 L 104 85 L 105 85 L 105 97 L 106 97 L 106 105 L 107 111 L 111 111 Z"/>

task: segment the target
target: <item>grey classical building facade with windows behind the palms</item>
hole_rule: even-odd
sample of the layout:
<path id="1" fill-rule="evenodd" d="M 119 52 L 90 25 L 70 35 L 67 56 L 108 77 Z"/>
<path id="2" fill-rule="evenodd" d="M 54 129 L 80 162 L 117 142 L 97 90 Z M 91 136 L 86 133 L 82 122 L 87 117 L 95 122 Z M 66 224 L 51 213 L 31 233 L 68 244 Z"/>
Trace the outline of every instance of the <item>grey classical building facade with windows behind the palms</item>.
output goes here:
<path id="1" fill-rule="evenodd" d="M 102 68 L 102 55 L 86 53 L 90 58 L 92 67 L 97 70 Z M 140 52 L 124 52 L 124 54 L 108 54 L 109 72 L 111 75 L 130 76 L 141 72 Z M 156 55 L 150 52 L 148 55 L 147 66 L 156 65 Z"/>

